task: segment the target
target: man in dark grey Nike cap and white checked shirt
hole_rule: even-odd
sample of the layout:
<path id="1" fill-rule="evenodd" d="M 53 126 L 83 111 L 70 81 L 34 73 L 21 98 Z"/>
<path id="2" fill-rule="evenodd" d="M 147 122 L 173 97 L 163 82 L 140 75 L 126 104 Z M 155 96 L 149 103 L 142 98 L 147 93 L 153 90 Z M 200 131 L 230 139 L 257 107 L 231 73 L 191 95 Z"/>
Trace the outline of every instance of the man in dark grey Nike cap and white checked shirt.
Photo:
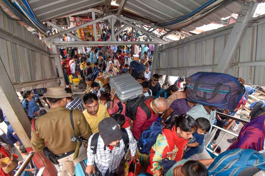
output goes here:
<path id="1" fill-rule="evenodd" d="M 98 125 L 99 133 L 88 141 L 86 173 L 101 172 L 102 176 L 117 176 L 117 169 L 129 145 L 132 160 L 135 159 L 137 143 L 129 129 L 120 128 L 113 118 L 105 118 Z"/>

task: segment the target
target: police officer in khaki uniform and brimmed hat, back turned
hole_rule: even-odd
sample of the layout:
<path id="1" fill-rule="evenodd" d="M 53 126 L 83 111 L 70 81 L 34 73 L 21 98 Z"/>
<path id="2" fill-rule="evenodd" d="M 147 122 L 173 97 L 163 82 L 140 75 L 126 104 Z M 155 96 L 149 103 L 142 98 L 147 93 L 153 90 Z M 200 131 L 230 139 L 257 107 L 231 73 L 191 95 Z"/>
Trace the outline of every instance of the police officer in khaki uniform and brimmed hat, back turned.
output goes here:
<path id="1" fill-rule="evenodd" d="M 47 142 L 49 150 L 60 157 L 58 162 L 64 165 L 70 176 L 75 175 L 75 165 L 86 158 L 86 149 L 82 144 L 77 158 L 74 159 L 77 143 L 71 142 L 70 138 L 77 135 L 89 139 L 92 135 L 89 124 L 78 109 L 72 112 L 73 130 L 70 110 L 65 108 L 66 97 L 71 96 L 72 94 L 66 93 L 65 87 L 48 87 L 44 97 L 47 98 L 51 108 L 47 110 L 45 115 L 33 121 L 35 129 L 34 127 L 31 129 L 31 145 L 34 152 L 40 153 L 45 147 L 45 142 Z"/>

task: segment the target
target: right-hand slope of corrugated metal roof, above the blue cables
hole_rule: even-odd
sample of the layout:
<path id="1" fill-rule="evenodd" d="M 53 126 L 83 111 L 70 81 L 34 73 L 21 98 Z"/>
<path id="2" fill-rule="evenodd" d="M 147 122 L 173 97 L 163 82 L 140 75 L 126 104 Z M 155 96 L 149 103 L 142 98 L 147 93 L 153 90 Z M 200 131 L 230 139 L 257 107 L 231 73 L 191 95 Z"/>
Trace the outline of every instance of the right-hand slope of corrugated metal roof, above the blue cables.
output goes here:
<path id="1" fill-rule="evenodd" d="M 122 0 L 117 0 L 116 3 L 120 4 L 121 1 Z M 190 12 L 193 12 L 195 9 L 201 7 L 208 1 L 209 0 L 127 0 L 124 8 L 141 14 L 143 15 L 143 17 L 146 17 L 153 21 L 165 21 L 187 15 Z M 196 27 L 218 21 L 222 17 L 228 17 L 233 13 L 238 12 L 239 9 L 240 4 L 233 2 L 227 7 L 208 15 L 207 17 L 193 23 L 192 25 L 186 26 L 182 29 L 182 31 L 193 31 L 194 29 L 196 29 Z"/>

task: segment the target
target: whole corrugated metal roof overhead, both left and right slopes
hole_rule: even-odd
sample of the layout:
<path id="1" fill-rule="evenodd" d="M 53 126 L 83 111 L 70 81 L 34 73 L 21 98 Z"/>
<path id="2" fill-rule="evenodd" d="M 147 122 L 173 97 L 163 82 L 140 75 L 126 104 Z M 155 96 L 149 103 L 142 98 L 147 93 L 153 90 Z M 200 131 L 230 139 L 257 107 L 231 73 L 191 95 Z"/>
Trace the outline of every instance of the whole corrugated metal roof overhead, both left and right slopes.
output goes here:
<path id="1" fill-rule="evenodd" d="M 122 0 L 116 0 L 120 4 Z M 152 21 L 169 20 L 187 15 L 209 0 L 127 0 L 125 9 Z M 69 15 L 84 9 L 104 4 L 105 0 L 29 0 L 31 8 L 41 21 Z M 222 17 L 238 12 L 240 4 L 234 2 L 207 17 L 186 26 L 182 31 L 193 31 L 196 27 L 218 21 Z M 174 29 L 174 27 L 168 27 Z"/>

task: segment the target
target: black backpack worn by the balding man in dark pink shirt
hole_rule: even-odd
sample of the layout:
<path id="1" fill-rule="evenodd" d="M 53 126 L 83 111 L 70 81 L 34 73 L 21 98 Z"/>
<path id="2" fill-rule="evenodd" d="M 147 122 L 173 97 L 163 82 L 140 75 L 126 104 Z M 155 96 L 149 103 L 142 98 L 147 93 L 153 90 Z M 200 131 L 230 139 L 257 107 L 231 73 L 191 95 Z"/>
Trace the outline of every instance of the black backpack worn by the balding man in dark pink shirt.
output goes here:
<path id="1" fill-rule="evenodd" d="M 132 120 L 134 120 L 135 116 L 136 116 L 137 108 L 138 108 L 138 106 L 141 106 L 141 108 L 143 109 L 143 111 L 147 115 L 146 120 L 150 119 L 151 118 L 151 111 L 148 108 L 148 106 L 146 106 L 146 104 L 144 102 L 146 100 L 156 99 L 156 98 L 157 97 L 155 97 L 155 96 L 148 96 L 148 97 L 137 98 L 137 99 L 128 101 L 126 103 L 125 116 L 130 117 Z"/>

